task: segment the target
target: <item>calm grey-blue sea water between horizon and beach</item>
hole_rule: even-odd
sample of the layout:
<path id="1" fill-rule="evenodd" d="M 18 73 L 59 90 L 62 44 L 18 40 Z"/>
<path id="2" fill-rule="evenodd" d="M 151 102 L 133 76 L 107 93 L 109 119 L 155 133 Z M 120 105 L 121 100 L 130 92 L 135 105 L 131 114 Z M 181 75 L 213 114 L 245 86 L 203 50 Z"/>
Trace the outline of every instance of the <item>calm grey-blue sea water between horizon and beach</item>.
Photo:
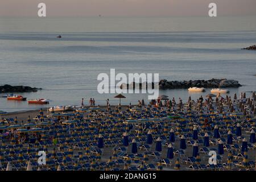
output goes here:
<path id="1" fill-rule="evenodd" d="M 57 39 L 61 34 L 63 38 Z M 96 104 L 117 104 L 114 94 L 97 92 L 99 73 L 159 73 L 167 80 L 230 78 L 256 90 L 255 17 L 223 18 L 0 18 L 0 85 L 43 88 L 24 93 L 48 98 L 50 105 L 79 105 L 82 97 Z M 205 93 L 160 90 L 187 101 Z M 146 94 L 126 94 L 123 104 L 137 104 Z M 41 106 L 0 98 L 0 110 Z"/>

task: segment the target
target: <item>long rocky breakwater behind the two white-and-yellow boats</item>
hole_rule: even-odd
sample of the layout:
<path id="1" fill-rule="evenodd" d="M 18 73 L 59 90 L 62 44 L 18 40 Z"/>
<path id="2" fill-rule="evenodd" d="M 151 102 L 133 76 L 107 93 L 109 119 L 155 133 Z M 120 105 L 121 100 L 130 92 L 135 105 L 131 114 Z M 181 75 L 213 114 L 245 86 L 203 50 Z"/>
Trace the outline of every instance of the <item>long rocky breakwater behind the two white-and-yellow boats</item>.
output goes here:
<path id="1" fill-rule="evenodd" d="M 130 84 L 123 84 L 120 86 L 121 89 L 146 89 L 147 84 L 138 84 L 131 82 Z M 154 83 L 152 88 L 154 89 Z M 159 81 L 159 89 L 188 89 L 189 87 L 204 87 L 204 88 L 238 88 L 242 86 L 237 80 L 227 80 L 212 78 L 210 80 L 189 80 L 189 81 L 168 81 L 166 79 Z"/>

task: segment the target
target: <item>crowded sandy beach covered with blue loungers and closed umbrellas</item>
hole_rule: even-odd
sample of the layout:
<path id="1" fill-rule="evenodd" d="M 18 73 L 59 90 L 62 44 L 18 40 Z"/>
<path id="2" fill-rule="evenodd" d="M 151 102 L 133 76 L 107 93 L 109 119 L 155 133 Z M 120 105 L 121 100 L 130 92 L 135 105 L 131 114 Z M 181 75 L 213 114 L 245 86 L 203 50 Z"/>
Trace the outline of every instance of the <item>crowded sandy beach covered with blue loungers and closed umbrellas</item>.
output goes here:
<path id="1" fill-rule="evenodd" d="M 4 137 L 3 132 L 1 135 L 2 169 L 9 165 L 13 170 L 26 170 L 28 163 L 32 170 L 53 171 L 255 168 L 255 143 L 251 143 L 251 133 L 255 130 L 251 106 L 255 94 L 220 101 L 210 98 L 208 102 L 197 103 L 188 100 L 175 104 L 171 101 L 171 105 L 166 106 L 162 105 L 166 102 L 160 102 L 144 106 L 85 105 L 84 109 L 77 107 L 76 111 L 47 113 L 42 109 L 2 115 L 5 119 L 14 118 L 13 123 L 2 122 L 1 125 L 1 131 L 13 133 L 11 137 Z M 209 123 L 206 124 L 205 119 Z M 227 139 L 230 131 L 232 144 L 228 144 Z M 171 142 L 172 132 L 175 141 Z M 209 135 L 209 146 L 204 143 L 205 133 Z M 151 135 L 152 143 L 148 141 L 148 135 Z M 185 140 L 185 148 L 182 148 L 181 140 Z M 245 141 L 246 149 L 242 147 Z M 170 147 L 171 156 L 168 153 Z M 198 148 L 193 157 L 195 147 Z M 36 155 L 40 150 L 46 152 L 46 165 L 37 162 Z M 209 164 L 209 151 L 216 152 L 217 165 Z"/>

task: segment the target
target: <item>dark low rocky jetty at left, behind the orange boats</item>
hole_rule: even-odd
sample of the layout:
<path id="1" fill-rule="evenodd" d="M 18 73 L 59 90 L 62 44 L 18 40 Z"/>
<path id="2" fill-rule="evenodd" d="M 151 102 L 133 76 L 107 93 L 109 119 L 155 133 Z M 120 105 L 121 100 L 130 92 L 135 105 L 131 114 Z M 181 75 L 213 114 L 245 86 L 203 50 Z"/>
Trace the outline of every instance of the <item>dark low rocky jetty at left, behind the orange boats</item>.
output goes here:
<path id="1" fill-rule="evenodd" d="M 42 90 L 41 88 L 32 88 L 30 86 L 11 86 L 11 85 L 3 85 L 0 86 L 0 93 L 7 92 L 38 92 L 38 90 Z"/>

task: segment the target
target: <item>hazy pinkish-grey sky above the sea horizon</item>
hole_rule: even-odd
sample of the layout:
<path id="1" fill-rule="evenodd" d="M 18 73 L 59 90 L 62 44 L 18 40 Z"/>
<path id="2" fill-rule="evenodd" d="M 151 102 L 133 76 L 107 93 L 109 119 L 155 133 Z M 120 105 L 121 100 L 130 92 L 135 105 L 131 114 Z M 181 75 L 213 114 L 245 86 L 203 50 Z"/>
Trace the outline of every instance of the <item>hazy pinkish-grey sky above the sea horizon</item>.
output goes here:
<path id="1" fill-rule="evenodd" d="M 217 16 L 256 15 L 256 0 L 0 0 L 0 17 L 37 16 L 38 3 L 46 3 L 47 16 Z"/>

